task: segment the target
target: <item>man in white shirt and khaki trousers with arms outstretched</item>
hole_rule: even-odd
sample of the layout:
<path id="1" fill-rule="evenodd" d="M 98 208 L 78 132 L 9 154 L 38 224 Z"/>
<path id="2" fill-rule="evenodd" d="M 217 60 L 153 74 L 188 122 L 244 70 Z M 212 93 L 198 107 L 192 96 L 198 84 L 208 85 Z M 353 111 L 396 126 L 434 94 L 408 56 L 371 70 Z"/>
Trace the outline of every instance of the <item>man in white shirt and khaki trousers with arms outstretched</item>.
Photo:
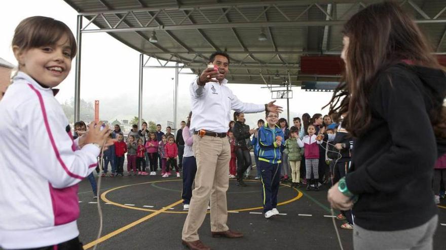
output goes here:
<path id="1" fill-rule="evenodd" d="M 226 85 L 229 56 L 216 52 L 209 58 L 207 68 L 190 86 L 192 101 L 191 131 L 194 133 L 193 150 L 197 161 L 195 189 L 182 230 L 182 243 L 193 250 L 208 250 L 198 236 L 206 216 L 210 198 L 212 237 L 240 238 L 242 233 L 229 230 L 226 191 L 229 186 L 229 161 L 231 149 L 226 133 L 231 120 L 231 110 L 258 113 L 266 110 L 280 113 L 282 107 L 268 104 L 242 103 Z"/>

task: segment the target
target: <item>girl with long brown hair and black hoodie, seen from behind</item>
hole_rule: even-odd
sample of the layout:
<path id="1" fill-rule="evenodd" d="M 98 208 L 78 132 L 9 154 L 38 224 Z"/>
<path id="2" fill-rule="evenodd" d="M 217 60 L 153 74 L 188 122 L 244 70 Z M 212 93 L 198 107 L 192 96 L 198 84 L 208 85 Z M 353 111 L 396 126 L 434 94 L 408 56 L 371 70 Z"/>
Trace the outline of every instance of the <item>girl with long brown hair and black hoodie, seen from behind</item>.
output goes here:
<path id="1" fill-rule="evenodd" d="M 355 142 L 349 173 L 328 201 L 353 207 L 355 249 L 432 249 L 432 169 L 446 138 L 444 69 L 395 3 L 355 14 L 343 40 L 344 81 L 329 105 Z"/>

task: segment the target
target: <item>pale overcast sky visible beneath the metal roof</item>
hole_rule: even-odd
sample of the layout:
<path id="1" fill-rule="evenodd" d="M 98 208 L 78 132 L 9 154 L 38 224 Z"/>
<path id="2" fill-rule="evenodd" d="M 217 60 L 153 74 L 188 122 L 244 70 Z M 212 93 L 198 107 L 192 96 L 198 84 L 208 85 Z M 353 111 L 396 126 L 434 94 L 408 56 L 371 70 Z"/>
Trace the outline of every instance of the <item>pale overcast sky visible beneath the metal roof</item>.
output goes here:
<path id="1" fill-rule="evenodd" d="M 14 29 L 24 18 L 48 16 L 60 20 L 71 28 L 76 36 L 77 12 L 62 0 L 15 0 L 2 3 L 0 9 L 0 57 L 17 64 L 11 49 Z M 87 23 L 84 19 L 84 23 Z M 106 33 L 86 33 L 82 37 L 81 98 L 93 103 L 100 101 L 102 120 L 127 119 L 138 115 L 139 53 Z M 187 72 L 187 71 L 183 71 Z M 143 118 L 161 123 L 173 121 L 173 69 L 144 69 L 143 71 Z M 178 123 L 190 110 L 189 85 L 194 75 L 180 74 L 178 92 Z M 264 104 L 271 100 L 271 93 L 265 85 L 229 84 L 229 87 L 243 102 Z M 60 103 L 74 96 L 75 60 L 71 72 L 60 85 L 56 96 Z M 306 92 L 300 87 L 293 88 L 290 99 L 290 117 L 303 113 L 326 114 L 321 112 L 330 99 L 330 92 Z M 286 99 L 277 100 L 284 107 Z M 264 114 L 247 115 L 247 123 L 253 126 Z"/>

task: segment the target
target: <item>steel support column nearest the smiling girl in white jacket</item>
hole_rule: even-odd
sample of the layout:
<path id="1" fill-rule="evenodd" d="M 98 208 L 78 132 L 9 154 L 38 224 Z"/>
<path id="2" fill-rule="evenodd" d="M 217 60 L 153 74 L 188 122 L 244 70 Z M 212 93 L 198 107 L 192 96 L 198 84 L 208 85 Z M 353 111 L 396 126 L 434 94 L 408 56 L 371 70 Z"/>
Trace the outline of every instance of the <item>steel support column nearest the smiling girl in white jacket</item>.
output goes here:
<path id="1" fill-rule="evenodd" d="M 78 15 L 78 27 L 76 29 L 76 39 L 78 41 L 76 56 L 76 70 L 75 70 L 75 117 L 74 121 L 80 120 L 81 111 L 81 48 L 82 48 L 82 16 Z"/>

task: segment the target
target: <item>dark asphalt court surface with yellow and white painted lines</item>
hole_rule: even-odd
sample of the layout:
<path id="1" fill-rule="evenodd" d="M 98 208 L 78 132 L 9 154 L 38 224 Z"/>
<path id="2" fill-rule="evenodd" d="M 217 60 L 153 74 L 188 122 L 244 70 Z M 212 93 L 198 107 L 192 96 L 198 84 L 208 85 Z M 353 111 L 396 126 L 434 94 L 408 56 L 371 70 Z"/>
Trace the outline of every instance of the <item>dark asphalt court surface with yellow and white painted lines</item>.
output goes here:
<path id="1" fill-rule="evenodd" d="M 255 176 L 255 170 L 251 175 Z M 332 219 L 328 217 L 331 216 L 326 202 L 328 186 L 316 192 L 281 185 L 279 203 L 286 204 L 278 206 L 278 210 L 283 215 L 268 220 L 261 214 L 260 182 L 246 183 L 247 187 L 238 187 L 230 180 L 227 193 L 228 210 L 232 211 L 228 225 L 243 232 L 244 237 L 212 238 L 208 214 L 199 235 L 212 249 L 340 249 Z M 101 192 L 100 199 L 93 199 L 88 180 L 80 183 L 78 226 L 82 242 L 90 246 L 88 249 L 93 249 L 91 242 L 96 240 L 99 229 L 95 202 L 101 203 L 103 213 L 102 240 L 97 249 L 186 249 L 181 245 L 181 230 L 187 216 L 180 203 L 181 178 L 161 178 L 159 173 L 157 176 L 105 177 Z M 172 204 L 176 205 L 167 208 Z M 342 223 L 336 220 L 338 228 Z M 104 239 L 110 233 L 114 234 Z M 339 233 L 344 249 L 353 249 L 352 231 L 339 228 Z M 444 235 L 446 202 L 442 200 L 434 249 L 444 249 Z"/>

